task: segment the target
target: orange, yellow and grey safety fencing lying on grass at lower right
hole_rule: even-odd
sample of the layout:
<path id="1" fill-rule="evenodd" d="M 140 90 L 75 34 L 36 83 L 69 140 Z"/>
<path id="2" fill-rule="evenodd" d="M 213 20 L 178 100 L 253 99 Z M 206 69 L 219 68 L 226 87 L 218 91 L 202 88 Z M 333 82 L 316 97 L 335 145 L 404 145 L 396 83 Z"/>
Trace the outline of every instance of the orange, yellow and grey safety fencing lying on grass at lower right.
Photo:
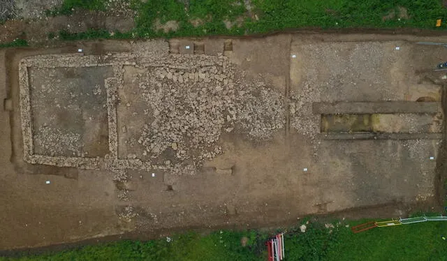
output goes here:
<path id="1" fill-rule="evenodd" d="M 427 221 L 447 221 L 447 216 L 417 216 L 414 218 L 399 218 L 399 220 L 390 221 L 370 221 L 351 227 L 354 233 L 363 232 L 372 228 L 392 227 L 395 225 L 408 225 L 413 223 L 427 222 Z"/>

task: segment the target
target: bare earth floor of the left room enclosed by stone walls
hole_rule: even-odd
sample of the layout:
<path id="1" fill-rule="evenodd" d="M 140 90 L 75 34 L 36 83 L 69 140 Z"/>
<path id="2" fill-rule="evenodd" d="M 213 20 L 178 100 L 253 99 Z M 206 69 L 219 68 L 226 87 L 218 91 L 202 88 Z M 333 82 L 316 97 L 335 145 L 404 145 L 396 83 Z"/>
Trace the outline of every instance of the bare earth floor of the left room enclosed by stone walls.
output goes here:
<path id="1" fill-rule="evenodd" d="M 29 68 L 34 154 L 103 157 L 109 153 L 104 80 L 110 66 Z"/>

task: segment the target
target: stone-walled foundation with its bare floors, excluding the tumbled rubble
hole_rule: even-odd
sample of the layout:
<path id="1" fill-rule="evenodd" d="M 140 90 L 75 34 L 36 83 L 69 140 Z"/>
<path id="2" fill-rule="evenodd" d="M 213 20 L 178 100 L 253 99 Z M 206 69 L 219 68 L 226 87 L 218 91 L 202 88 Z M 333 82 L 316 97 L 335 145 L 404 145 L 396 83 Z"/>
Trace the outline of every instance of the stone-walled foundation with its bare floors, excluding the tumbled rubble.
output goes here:
<path id="1" fill-rule="evenodd" d="M 125 52 L 22 59 L 19 103 L 24 162 L 112 172 L 165 169 L 166 161 L 154 161 L 145 150 L 149 143 L 140 144 L 142 133 L 156 119 L 140 90 L 161 87 L 160 80 L 168 75 L 173 84 L 186 88 L 194 81 L 205 82 L 198 73 L 201 68 L 226 68 L 223 57 L 189 59 L 193 66 L 185 66 L 175 55 L 141 58 Z M 161 68 L 166 75 L 154 73 Z M 150 73 L 159 82 L 145 78 Z"/>

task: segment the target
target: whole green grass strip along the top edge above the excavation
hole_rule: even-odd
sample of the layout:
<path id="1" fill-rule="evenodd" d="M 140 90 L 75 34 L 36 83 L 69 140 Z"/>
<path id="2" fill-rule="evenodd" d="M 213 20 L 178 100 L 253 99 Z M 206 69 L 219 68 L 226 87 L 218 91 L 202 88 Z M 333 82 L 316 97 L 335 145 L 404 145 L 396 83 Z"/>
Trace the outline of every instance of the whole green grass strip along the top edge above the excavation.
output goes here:
<path id="1" fill-rule="evenodd" d="M 107 0 L 64 0 L 62 6 L 48 10 L 48 15 L 69 15 L 72 9 L 105 10 Z M 447 21 L 447 8 L 441 0 L 252 0 L 251 15 L 243 0 L 128 0 L 138 13 L 135 28 L 127 38 L 175 36 L 244 35 L 297 28 L 420 28 L 435 29 L 437 19 Z M 187 4 L 185 4 L 187 3 Z M 406 10 L 407 17 L 400 17 Z M 388 17 L 394 13 L 394 17 Z M 256 16 L 255 16 L 256 15 Z M 177 21 L 179 29 L 164 33 L 154 29 L 159 19 L 163 24 Z M 193 27 L 191 20 L 203 24 Z M 223 20 L 240 23 L 226 29 Z M 242 21 L 242 22 L 241 22 Z M 443 22 L 441 28 L 446 29 Z M 96 30 L 101 31 L 101 30 Z M 85 38 L 82 38 L 85 36 Z M 78 39 L 91 38 L 91 33 L 78 34 Z M 95 38 L 110 38 L 97 33 Z"/>

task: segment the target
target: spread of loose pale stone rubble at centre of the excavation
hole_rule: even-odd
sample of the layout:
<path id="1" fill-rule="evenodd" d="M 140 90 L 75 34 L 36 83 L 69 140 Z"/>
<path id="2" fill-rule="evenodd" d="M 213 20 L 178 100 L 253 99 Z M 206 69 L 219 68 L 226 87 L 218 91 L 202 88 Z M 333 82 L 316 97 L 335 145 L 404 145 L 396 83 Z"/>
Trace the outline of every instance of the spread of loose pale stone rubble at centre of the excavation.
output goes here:
<path id="1" fill-rule="evenodd" d="M 143 154 L 175 154 L 175 160 L 164 161 L 161 168 L 193 172 L 222 153 L 217 145 L 222 131 L 265 140 L 284 127 L 284 96 L 263 82 L 235 82 L 226 57 L 173 58 L 171 65 L 133 77 L 152 111 L 153 121 L 145 124 L 138 139 Z"/>

